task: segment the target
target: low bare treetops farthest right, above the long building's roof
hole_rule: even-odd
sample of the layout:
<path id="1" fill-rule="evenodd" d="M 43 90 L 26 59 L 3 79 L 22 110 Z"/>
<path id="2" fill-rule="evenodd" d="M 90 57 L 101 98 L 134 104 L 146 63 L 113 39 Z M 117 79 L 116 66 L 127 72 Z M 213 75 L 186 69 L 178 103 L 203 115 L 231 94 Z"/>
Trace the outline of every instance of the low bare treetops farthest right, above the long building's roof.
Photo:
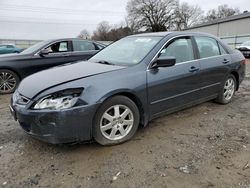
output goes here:
<path id="1" fill-rule="evenodd" d="M 229 16 L 240 14 L 238 8 L 230 8 L 227 4 L 218 6 L 217 9 L 211 9 L 207 12 L 206 21 L 213 21 L 220 18 L 227 18 Z"/>

